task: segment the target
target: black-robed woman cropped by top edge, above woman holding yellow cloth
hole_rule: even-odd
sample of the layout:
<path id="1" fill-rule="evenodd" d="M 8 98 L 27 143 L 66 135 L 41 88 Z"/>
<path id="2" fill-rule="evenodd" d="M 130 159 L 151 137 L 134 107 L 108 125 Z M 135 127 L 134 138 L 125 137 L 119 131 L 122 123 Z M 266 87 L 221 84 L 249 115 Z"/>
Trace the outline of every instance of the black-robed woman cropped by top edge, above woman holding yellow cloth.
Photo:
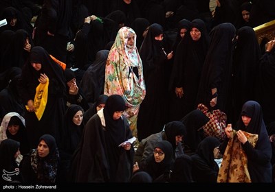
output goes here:
<path id="1" fill-rule="evenodd" d="M 66 62 L 67 43 L 71 40 L 72 0 L 45 0 L 34 27 L 34 44 Z"/>

